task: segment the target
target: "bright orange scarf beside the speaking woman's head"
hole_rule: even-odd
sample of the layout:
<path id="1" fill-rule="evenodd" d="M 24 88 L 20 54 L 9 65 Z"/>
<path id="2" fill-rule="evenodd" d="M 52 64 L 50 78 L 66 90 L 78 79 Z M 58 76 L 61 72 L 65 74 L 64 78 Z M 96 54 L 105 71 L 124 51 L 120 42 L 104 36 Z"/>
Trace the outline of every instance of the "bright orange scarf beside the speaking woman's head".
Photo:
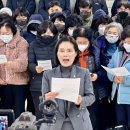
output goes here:
<path id="1" fill-rule="evenodd" d="M 87 68 L 87 59 L 85 56 L 89 55 L 89 50 L 86 49 L 84 52 L 79 52 L 79 66 L 83 68 Z"/>

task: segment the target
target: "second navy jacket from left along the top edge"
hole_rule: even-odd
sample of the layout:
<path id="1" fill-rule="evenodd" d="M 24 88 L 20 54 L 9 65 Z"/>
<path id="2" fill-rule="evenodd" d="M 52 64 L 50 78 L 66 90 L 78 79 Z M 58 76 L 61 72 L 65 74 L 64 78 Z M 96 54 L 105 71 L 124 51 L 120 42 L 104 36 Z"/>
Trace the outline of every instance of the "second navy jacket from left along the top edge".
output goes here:
<path id="1" fill-rule="evenodd" d="M 40 0 L 38 6 L 38 13 L 43 16 L 44 19 L 48 19 L 48 4 L 53 0 Z M 59 0 L 63 12 L 68 16 L 70 12 L 70 0 Z"/>

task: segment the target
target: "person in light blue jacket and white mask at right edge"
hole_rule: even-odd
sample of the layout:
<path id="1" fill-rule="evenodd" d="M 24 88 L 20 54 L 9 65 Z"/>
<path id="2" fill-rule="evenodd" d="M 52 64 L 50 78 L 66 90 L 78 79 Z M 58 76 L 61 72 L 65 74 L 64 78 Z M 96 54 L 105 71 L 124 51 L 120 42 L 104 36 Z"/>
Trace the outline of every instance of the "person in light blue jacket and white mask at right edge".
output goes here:
<path id="1" fill-rule="evenodd" d="M 130 26 L 124 28 L 121 40 L 108 67 L 125 67 L 130 72 Z M 115 76 L 108 73 L 108 78 L 113 82 L 111 99 L 115 101 L 117 123 L 130 129 L 130 75 Z"/>

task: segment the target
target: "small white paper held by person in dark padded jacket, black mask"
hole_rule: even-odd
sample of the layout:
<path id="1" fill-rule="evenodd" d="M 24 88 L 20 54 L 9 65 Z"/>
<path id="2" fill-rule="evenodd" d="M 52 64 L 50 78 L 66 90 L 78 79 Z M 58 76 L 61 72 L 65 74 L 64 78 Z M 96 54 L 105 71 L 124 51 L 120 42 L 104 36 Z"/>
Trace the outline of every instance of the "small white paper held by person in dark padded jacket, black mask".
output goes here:
<path id="1" fill-rule="evenodd" d="M 52 69 L 51 60 L 38 60 L 38 66 L 42 67 L 43 70 Z"/>

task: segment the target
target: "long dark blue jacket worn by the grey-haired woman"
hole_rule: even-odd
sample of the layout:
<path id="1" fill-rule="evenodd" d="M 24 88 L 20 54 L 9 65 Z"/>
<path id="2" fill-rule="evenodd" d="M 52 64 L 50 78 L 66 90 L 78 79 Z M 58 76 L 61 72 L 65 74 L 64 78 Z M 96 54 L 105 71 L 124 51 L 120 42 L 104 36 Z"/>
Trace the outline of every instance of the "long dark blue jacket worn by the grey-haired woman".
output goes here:
<path id="1" fill-rule="evenodd" d="M 99 95 L 99 98 L 104 98 L 106 96 L 110 96 L 110 86 L 112 83 L 107 78 L 106 71 L 101 67 L 101 65 L 107 66 L 111 56 L 107 55 L 108 42 L 104 36 L 100 36 L 97 38 L 96 43 L 94 45 L 94 58 L 95 58 L 95 68 L 96 73 L 98 75 L 98 79 L 96 80 L 96 90 Z M 118 43 L 117 43 L 118 45 Z M 113 50 L 113 51 L 116 51 Z"/>

